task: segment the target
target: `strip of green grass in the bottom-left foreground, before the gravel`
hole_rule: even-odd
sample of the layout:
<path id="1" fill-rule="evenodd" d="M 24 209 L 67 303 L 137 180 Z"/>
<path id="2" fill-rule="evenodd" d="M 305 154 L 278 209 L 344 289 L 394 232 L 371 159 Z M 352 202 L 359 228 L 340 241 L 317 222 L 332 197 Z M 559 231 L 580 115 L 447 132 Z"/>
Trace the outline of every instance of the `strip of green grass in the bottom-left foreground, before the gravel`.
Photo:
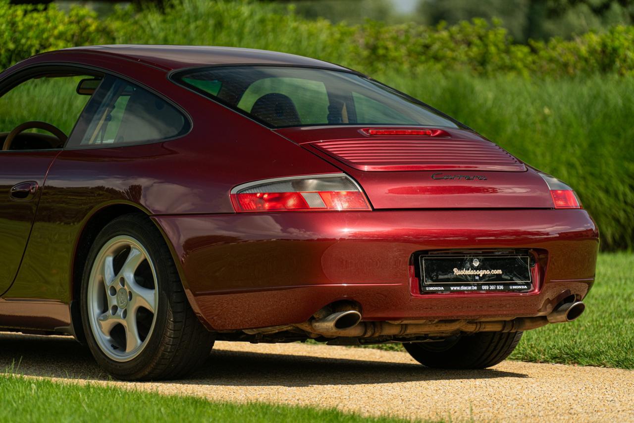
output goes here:
<path id="1" fill-rule="evenodd" d="M 404 422 L 368 419 L 335 409 L 289 407 L 265 403 L 210 402 L 191 396 L 163 396 L 115 387 L 27 379 L 0 375 L 2 422 Z"/>

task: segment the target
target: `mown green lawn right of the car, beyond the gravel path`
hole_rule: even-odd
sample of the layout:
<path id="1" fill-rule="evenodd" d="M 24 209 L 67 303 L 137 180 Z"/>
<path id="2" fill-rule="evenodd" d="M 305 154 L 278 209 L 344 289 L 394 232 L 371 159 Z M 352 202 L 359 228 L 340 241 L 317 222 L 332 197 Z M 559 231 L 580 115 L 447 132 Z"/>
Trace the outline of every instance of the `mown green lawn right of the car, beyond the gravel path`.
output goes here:
<path id="1" fill-rule="evenodd" d="M 600 254 L 585 313 L 524 332 L 511 360 L 634 369 L 634 254 Z M 404 351 L 401 344 L 372 348 Z"/>

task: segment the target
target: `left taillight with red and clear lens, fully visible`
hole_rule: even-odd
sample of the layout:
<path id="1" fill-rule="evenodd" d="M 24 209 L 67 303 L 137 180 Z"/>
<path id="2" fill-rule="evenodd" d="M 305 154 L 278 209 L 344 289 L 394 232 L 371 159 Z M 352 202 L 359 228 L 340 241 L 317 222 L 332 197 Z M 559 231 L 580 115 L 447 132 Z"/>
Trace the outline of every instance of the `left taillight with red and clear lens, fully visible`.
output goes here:
<path id="1" fill-rule="evenodd" d="M 265 179 L 231 190 L 236 212 L 370 210 L 359 186 L 345 174 Z"/>

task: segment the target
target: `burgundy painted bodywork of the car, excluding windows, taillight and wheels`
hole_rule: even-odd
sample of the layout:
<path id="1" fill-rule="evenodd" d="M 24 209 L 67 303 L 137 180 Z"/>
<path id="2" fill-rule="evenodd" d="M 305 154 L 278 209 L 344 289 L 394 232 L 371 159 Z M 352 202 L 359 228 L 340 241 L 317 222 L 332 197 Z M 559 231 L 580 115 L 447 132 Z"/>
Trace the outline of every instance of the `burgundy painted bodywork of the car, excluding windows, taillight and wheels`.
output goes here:
<path id="1" fill-rule="evenodd" d="M 0 75 L 1 83 L 32 67 L 97 69 L 160 93 L 191 120 L 174 140 L 0 153 L 0 219 L 13 231 L 0 242 L 15 247 L 0 280 L 1 327 L 81 337 L 75 309 L 87 249 L 129 211 L 159 226 L 210 330 L 306 322 L 339 300 L 359 304 L 366 321 L 545 316 L 592 287 L 598 231 L 588 212 L 554 209 L 538 172 L 490 141 L 462 127 L 433 141 L 371 139 L 360 131 L 367 126 L 270 129 L 169 79 L 230 63 L 346 70 L 248 49 L 101 46 L 44 53 Z M 404 154 L 426 142 L 446 151 L 409 162 L 355 154 L 377 140 Z M 493 159 L 458 157 L 455 146 Z M 236 213 L 231 203 L 232 188 L 250 181 L 341 172 L 371 211 Z M 37 182 L 36 201 L 8 200 L 21 181 Z M 500 248 L 531 251 L 530 292 L 420 292 L 415 253 Z"/>

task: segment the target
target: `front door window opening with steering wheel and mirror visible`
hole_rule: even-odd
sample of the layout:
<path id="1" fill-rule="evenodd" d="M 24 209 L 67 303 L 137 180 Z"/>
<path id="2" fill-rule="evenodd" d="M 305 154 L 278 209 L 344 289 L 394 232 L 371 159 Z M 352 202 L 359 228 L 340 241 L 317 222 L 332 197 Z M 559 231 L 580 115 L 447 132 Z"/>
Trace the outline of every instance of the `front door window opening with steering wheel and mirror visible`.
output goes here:
<path id="1" fill-rule="evenodd" d="M 0 150 L 61 148 L 89 100 L 77 92 L 87 75 L 56 72 L 24 81 L 0 97 Z"/>

